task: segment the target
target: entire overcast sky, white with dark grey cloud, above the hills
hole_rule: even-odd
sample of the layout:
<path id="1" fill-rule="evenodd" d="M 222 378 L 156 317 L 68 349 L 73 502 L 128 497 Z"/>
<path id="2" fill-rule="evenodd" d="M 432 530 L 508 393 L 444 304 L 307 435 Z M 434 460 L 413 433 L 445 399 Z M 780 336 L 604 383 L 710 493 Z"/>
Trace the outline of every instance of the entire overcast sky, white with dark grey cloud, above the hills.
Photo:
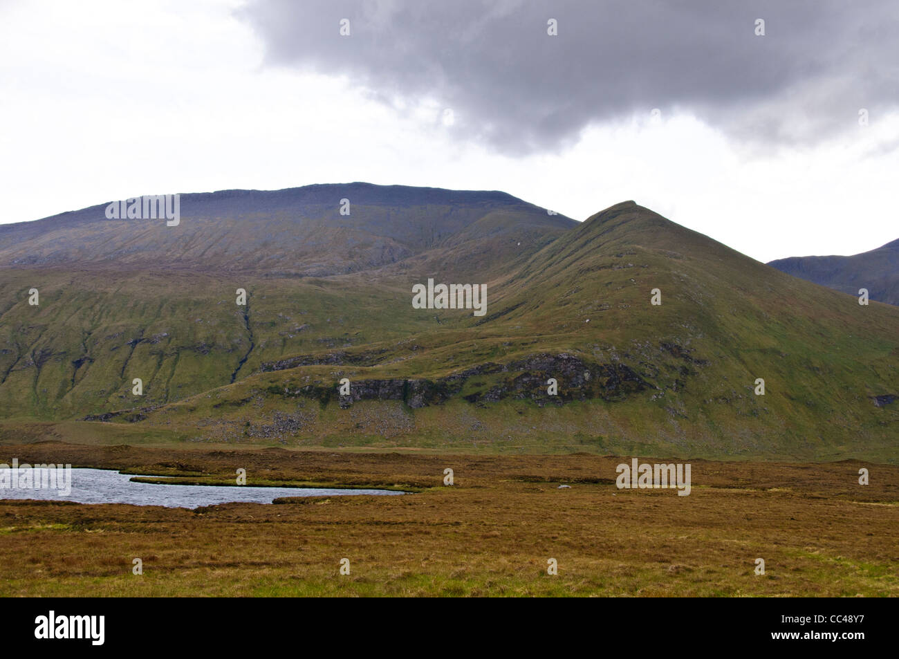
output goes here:
<path id="1" fill-rule="evenodd" d="M 0 125 L 0 223 L 367 181 L 855 254 L 899 238 L 899 4 L 0 0 Z"/>

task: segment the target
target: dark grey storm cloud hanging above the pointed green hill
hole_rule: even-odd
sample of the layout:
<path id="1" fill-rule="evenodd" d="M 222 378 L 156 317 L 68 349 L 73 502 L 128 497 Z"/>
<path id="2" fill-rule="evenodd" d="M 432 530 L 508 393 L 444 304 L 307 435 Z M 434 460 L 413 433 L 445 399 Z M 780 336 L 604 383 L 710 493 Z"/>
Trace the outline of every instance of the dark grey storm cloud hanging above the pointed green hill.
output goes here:
<path id="1" fill-rule="evenodd" d="M 461 137 L 509 154 L 654 108 L 770 145 L 899 104 L 893 0 L 251 0 L 237 15 L 267 66 L 347 76 L 395 106 L 438 102 Z"/>

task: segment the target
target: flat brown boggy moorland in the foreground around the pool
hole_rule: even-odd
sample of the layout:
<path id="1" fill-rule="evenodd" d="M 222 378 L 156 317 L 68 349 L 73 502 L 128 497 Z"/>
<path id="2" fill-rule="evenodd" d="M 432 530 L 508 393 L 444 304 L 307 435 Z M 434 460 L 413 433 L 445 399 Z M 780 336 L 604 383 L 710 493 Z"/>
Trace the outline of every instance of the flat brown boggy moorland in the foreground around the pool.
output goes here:
<path id="1" fill-rule="evenodd" d="M 678 496 L 617 489 L 629 456 L 0 447 L 0 462 L 13 457 L 418 491 L 195 511 L 0 501 L 5 596 L 899 595 L 899 467 L 693 460 L 692 491 Z"/>

